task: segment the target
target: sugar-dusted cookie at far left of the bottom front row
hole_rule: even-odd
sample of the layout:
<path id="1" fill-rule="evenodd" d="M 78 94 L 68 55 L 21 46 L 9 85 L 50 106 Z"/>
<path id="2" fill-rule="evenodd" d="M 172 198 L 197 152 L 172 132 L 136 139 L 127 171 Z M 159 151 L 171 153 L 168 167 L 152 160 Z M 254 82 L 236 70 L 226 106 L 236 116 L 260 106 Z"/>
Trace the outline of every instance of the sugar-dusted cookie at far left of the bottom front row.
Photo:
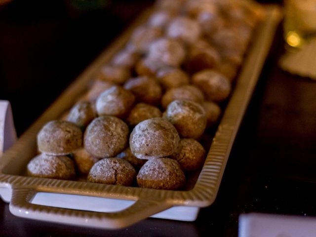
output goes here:
<path id="1" fill-rule="evenodd" d="M 71 179 L 75 176 L 74 161 L 66 156 L 40 154 L 27 165 L 28 174 L 33 177 Z"/>

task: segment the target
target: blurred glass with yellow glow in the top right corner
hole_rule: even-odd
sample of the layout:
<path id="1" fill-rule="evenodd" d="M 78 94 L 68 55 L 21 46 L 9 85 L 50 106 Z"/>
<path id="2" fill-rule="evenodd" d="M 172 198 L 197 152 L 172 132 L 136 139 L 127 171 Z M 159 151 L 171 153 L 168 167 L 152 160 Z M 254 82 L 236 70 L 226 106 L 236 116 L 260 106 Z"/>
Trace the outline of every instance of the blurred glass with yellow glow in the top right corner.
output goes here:
<path id="1" fill-rule="evenodd" d="M 300 47 L 316 37 L 316 0 L 284 0 L 284 38 L 288 45 Z"/>

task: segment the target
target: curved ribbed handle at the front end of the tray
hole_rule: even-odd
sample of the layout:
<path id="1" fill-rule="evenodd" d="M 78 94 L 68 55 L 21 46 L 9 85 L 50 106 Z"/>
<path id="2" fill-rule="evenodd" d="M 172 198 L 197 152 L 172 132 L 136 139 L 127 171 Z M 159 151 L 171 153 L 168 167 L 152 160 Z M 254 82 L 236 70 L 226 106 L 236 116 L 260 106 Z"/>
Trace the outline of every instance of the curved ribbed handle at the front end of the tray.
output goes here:
<path id="1" fill-rule="evenodd" d="M 35 194 L 36 191 L 33 189 L 13 187 L 9 204 L 11 213 L 19 217 L 56 223 L 118 229 L 130 226 L 172 206 L 165 200 L 140 198 L 126 209 L 104 213 L 33 204 L 30 200 Z"/>

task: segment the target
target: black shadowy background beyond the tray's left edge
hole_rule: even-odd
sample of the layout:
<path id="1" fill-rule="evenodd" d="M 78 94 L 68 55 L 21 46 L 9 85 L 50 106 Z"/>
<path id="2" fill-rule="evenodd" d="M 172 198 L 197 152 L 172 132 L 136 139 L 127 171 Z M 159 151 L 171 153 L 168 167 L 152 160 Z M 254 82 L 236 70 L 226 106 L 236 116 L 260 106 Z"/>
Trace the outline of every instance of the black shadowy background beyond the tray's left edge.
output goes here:
<path id="1" fill-rule="evenodd" d="M 14 0 L 0 8 L 0 99 L 17 133 L 151 1 Z"/>

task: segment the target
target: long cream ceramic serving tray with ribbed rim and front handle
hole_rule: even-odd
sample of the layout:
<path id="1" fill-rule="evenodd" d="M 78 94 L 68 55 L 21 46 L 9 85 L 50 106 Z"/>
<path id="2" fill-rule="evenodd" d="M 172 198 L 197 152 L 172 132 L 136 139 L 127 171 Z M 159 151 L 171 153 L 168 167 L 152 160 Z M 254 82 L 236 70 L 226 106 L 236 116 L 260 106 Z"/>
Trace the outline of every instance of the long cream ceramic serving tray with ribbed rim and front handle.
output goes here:
<path id="1" fill-rule="evenodd" d="M 277 6 L 267 6 L 265 11 L 265 18 L 247 51 L 203 168 L 190 190 L 154 190 L 26 175 L 26 165 L 37 153 L 36 136 L 40 128 L 47 121 L 60 118 L 72 107 L 100 67 L 125 45 L 133 30 L 147 19 L 151 13 L 148 10 L 102 52 L 0 158 L 0 196 L 10 203 L 10 211 L 30 219 L 104 229 L 123 228 L 148 217 L 194 221 L 199 208 L 215 200 L 239 124 L 280 20 Z"/>

